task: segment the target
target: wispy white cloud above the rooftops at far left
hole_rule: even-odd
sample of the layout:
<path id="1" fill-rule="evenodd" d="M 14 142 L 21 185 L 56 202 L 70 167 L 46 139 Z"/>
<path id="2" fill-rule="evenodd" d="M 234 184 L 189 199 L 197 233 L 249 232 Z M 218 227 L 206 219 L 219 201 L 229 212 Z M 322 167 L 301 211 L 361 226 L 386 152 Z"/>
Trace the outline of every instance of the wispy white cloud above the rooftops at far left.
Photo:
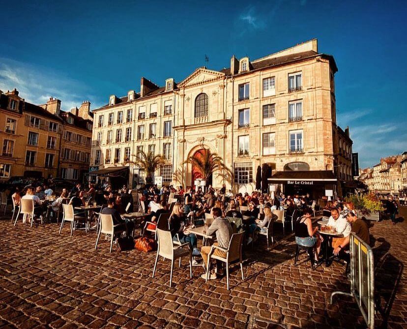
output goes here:
<path id="1" fill-rule="evenodd" d="M 4 92 L 14 88 L 20 92 L 19 96 L 36 105 L 44 104 L 51 96 L 61 100 L 63 110 L 79 107 L 85 100 L 92 103 L 92 109 L 103 105 L 92 102 L 96 97 L 91 95 L 86 85 L 62 73 L 0 58 L 0 90 Z"/>

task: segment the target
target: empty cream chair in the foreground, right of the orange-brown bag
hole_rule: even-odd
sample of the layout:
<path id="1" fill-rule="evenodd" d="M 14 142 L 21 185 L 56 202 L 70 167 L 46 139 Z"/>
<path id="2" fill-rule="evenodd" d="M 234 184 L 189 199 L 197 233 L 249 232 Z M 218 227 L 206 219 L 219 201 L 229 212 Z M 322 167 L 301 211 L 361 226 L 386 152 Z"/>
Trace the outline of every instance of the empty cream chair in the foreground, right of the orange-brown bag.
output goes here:
<path id="1" fill-rule="evenodd" d="M 173 271 L 174 271 L 174 261 L 180 259 L 183 256 L 189 257 L 189 275 L 192 278 L 192 249 L 189 242 L 184 243 L 180 246 L 174 246 L 173 238 L 171 232 L 168 230 L 162 230 L 157 228 L 156 230 L 158 236 L 158 248 L 157 256 L 155 257 L 154 269 L 152 277 L 155 275 L 155 270 L 157 269 L 158 258 L 164 257 L 171 260 L 171 272 L 170 272 L 170 288 L 173 282 Z M 181 264 L 181 263 L 179 263 Z"/>

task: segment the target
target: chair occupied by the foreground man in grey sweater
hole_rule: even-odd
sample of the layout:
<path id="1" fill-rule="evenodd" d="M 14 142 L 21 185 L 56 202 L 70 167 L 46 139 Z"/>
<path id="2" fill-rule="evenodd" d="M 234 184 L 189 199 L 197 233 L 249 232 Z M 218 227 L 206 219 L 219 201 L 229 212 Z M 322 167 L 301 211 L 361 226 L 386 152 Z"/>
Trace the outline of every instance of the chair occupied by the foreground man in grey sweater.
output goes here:
<path id="1" fill-rule="evenodd" d="M 222 248 L 220 246 L 212 245 L 210 248 L 210 252 L 208 255 L 208 263 L 206 264 L 206 280 L 209 278 L 209 264 L 210 260 L 216 259 L 226 264 L 226 288 L 229 290 L 229 265 L 233 263 L 240 264 L 240 271 L 242 274 L 242 280 L 244 280 L 243 274 L 243 263 L 242 263 L 242 245 L 243 245 L 243 237 L 245 232 L 235 233 L 231 237 L 231 241 L 229 242 L 229 247 L 227 249 Z M 226 253 L 226 257 L 222 257 L 219 255 L 215 255 L 214 251 L 218 249 Z"/>

